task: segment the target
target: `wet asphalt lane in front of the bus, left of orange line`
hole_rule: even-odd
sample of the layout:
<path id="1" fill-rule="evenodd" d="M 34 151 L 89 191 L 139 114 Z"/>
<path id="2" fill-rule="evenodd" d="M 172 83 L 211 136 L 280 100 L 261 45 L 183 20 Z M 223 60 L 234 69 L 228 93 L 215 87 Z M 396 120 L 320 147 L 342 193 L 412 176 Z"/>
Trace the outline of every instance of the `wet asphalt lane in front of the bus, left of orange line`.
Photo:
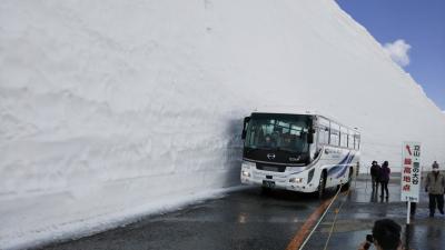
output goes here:
<path id="1" fill-rule="evenodd" d="M 315 196 L 280 190 L 265 194 L 248 188 L 42 249 L 284 250 L 320 202 Z"/>

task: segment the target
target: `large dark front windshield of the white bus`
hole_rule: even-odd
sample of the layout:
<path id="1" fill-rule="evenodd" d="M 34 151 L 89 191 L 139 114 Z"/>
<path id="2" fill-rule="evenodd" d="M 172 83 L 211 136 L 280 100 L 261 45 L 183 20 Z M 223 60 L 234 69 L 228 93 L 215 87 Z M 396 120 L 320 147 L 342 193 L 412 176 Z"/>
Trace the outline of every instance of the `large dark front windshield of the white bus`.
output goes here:
<path id="1" fill-rule="evenodd" d="M 307 153 L 309 118 L 303 114 L 253 113 L 245 147 Z"/>

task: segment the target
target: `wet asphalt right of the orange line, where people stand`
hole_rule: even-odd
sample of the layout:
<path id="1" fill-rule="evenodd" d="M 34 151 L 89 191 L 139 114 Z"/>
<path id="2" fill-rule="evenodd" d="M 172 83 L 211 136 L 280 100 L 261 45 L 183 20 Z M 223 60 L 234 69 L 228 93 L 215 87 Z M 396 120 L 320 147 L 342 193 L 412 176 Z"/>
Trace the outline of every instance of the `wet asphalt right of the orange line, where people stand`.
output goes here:
<path id="1" fill-rule="evenodd" d="M 393 177 L 387 200 L 379 198 L 379 191 L 373 193 L 369 181 L 357 181 L 352 192 L 336 199 L 304 249 L 357 249 L 372 233 L 374 221 L 388 218 L 402 226 L 400 240 L 406 249 L 444 250 L 445 216 L 436 211 L 429 218 L 428 194 L 421 192 L 416 214 L 406 227 L 407 208 L 399 201 L 399 177 Z"/>

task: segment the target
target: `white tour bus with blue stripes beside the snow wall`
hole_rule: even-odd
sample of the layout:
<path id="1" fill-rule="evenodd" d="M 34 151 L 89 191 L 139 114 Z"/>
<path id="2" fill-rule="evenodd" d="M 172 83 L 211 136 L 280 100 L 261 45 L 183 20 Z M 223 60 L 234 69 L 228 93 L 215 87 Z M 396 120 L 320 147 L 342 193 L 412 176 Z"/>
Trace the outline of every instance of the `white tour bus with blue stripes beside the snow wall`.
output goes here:
<path id="1" fill-rule="evenodd" d="M 255 111 L 245 118 L 243 139 L 244 184 L 322 197 L 358 173 L 360 134 L 325 116 Z"/>

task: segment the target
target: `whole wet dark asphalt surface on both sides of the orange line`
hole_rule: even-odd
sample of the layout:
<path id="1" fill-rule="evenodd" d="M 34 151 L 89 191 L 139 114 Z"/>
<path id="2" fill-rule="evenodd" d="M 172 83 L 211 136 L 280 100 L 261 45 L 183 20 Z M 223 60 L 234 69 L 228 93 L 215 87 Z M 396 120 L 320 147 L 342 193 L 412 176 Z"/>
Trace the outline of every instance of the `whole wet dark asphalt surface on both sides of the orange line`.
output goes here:
<path id="1" fill-rule="evenodd" d="M 406 207 L 399 201 L 399 179 L 389 183 L 388 200 L 373 196 L 369 182 L 363 178 L 354 186 L 352 192 L 338 196 L 304 249 L 357 249 L 374 221 L 383 218 L 403 226 L 403 242 L 409 249 L 445 249 L 445 217 L 428 218 L 427 194 L 421 193 L 416 217 L 405 230 Z M 330 190 L 330 197 L 334 192 Z M 264 194 L 258 188 L 248 188 L 40 249 L 285 250 L 322 202 L 315 196 L 279 190 Z"/>

